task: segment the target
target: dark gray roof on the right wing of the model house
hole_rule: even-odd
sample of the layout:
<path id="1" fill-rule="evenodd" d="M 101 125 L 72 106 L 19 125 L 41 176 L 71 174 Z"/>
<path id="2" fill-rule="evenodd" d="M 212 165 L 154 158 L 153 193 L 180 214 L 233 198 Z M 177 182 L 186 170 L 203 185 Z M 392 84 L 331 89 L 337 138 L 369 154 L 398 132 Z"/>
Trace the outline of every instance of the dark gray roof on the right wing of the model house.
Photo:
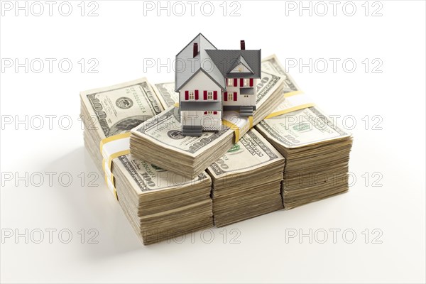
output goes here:
<path id="1" fill-rule="evenodd" d="M 206 52 L 224 77 L 261 77 L 261 50 L 210 49 L 206 50 Z M 234 69 L 233 67 L 236 67 L 240 62 L 246 65 L 247 69 L 253 71 L 253 73 L 231 72 Z"/>

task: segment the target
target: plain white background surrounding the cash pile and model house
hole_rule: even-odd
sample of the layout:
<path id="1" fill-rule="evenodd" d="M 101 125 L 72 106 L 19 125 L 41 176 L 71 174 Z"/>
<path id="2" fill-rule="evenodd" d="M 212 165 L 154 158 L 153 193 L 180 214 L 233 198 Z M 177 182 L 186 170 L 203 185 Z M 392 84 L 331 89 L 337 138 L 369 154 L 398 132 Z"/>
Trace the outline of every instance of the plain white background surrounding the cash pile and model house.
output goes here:
<path id="1" fill-rule="evenodd" d="M 88 2 L 81 16 L 80 1 L 70 1 L 70 16 L 58 12 L 58 1 L 49 16 L 48 4 L 42 1 L 42 16 L 33 15 L 40 9 L 34 5 L 28 16 L 25 11 L 15 16 L 14 1 L 9 2 L 11 11 L 3 9 L 4 2 L 0 19 L 2 282 L 425 282 L 424 1 L 354 1 L 346 4 L 346 10 L 342 1 L 336 16 L 329 1 L 317 6 L 305 1 L 312 16 L 309 10 L 299 15 L 299 1 L 238 1 L 240 16 L 229 16 L 237 7 L 229 2 L 223 16 L 222 1 L 212 2 L 212 16 L 202 14 L 202 2 L 195 6 L 195 16 L 186 1 L 185 16 L 173 11 L 170 16 L 166 11 L 157 16 L 156 10 L 145 10 L 144 16 L 142 1 L 96 1 L 98 16 L 87 16 L 96 7 Z M 31 9 L 32 2 L 27 3 Z M 320 16 L 324 6 L 328 13 Z M 354 16 L 349 16 L 351 6 L 356 6 Z M 204 6 L 205 13 L 208 8 Z M 381 16 L 372 16 L 374 11 Z M 173 60 L 200 32 L 217 48 L 239 48 L 239 40 L 244 39 L 247 49 L 261 48 L 264 57 L 275 53 L 283 63 L 286 58 L 305 63 L 312 58 L 312 70 L 299 70 L 297 65 L 288 71 L 322 109 L 341 116 L 340 122 L 353 133 L 353 180 L 344 195 L 213 228 L 204 233 L 204 241 L 197 233 L 193 239 L 180 239 L 181 244 L 143 246 L 102 176 L 94 180 L 97 186 L 88 186 L 93 178 L 89 174 L 97 170 L 83 146 L 79 92 L 144 76 L 150 82 L 171 81 L 173 70 L 147 68 L 144 62 Z M 25 67 L 6 67 L 9 60 L 23 63 L 26 58 L 28 65 L 40 58 L 44 70 L 35 72 L 40 68 L 37 60 L 28 72 Z M 45 58 L 55 58 L 52 72 Z M 78 63 L 82 58 L 83 70 Z M 99 62 L 97 73 L 88 72 L 91 58 Z M 336 72 L 329 58 L 340 60 Z M 59 69 L 61 59 L 72 62 L 70 72 L 64 72 L 65 64 L 64 70 Z M 349 72 L 349 63 L 346 70 L 342 67 L 347 59 L 356 62 L 354 72 Z M 324 60 L 329 66 L 321 72 Z M 373 72 L 377 62 L 383 63 L 374 70 L 380 73 Z M 28 124 L 16 124 L 26 116 Z M 37 130 L 40 116 L 43 127 Z M 344 117 L 349 118 L 342 121 Z M 72 125 L 65 129 L 69 120 Z M 46 172 L 54 172 L 51 185 Z M 65 186 L 69 175 L 72 182 Z M 26 229 L 28 244 L 24 236 L 15 239 Z M 48 229 L 56 230 L 51 244 Z M 81 229 L 84 244 L 78 234 Z M 94 239 L 98 244 L 89 244 L 89 229 L 99 232 Z M 293 229 L 297 234 L 312 229 L 312 243 L 308 237 L 286 241 Z M 332 229 L 341 230 L 335 241 Z M 377 229 L 374 234 L 373 229 Z M 35 244 L 40 230 L 44 239 Z M 62 239 L 60 230 L 65 230 Z M 328 239 L 320 244 L 324 230 Z M 346 238 L 344 230 L 349 230 Z M 72 240 L 62 244 L 67 231 Z M 13 236 L 5 238 L 10 232 Z M 356 239 L 348 244 L 351 232 Z M 231 241 L 236 233 L 239 236 Z M 206 244 L 210 234 L 214 239 Z"/>

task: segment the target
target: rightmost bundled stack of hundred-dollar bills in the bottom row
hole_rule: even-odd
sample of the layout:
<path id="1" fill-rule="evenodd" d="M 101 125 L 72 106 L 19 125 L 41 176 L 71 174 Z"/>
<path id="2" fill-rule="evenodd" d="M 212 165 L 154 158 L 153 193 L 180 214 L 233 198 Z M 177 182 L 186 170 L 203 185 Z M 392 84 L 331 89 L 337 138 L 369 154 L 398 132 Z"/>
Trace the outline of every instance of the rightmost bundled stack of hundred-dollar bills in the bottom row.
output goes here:
<path id="1" fill-rule="evenodd" d="M 317 107 L 265 119 L 256 129 L 285 157 L 285 209 L 349 189 L 352 138 Z"/>

